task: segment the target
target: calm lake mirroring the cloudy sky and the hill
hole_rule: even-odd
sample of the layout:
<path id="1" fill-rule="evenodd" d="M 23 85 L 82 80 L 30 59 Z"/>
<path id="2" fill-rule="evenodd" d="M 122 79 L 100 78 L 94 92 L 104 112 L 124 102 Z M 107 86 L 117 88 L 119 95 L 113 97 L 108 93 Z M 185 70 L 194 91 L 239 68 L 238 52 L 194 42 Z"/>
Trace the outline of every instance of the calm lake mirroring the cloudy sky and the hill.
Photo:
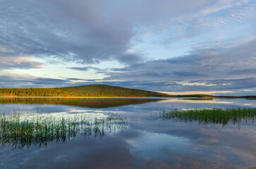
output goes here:
<path id="1" fill-rule="evenodd" d="M 30 127 L 43 120 L 48 127 L 69 126 L 60 134 L 50 132 L 56 128 L 47 135 L 26 130 L 30 137 L 17 131 L 10 137 L 17 128 L 2 127 L 0 168 L 250 168 L 256 166 L 253 121 L 202 124 L 159 116 L 173 109 L 239 107 L 255 108 L 256 100 L 0 98 L 5 118 L 14 112 L 24 122 L 40 117 L 37 124 L 24 123 Z"/>

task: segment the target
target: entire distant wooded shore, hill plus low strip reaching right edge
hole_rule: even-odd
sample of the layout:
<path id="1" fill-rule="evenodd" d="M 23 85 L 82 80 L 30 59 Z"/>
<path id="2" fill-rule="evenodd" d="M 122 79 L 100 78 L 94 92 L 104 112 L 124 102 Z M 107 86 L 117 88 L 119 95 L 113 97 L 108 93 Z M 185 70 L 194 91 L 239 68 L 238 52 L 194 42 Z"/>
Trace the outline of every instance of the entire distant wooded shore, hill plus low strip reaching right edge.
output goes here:
<path id="1" fill-rule="evenodd" d="M 226 93 L 226 92 L 221 92 Z M 202 98 L 202 99 L 256 99 L 256 96 L 214 96 L 202 92 L 152 92 L 142 89 L 109 86 L 104 84 L 89 84 L 76 87 L 56 88 L 0 88 L 2 97 L 56 97 L 56 98 Z"/>

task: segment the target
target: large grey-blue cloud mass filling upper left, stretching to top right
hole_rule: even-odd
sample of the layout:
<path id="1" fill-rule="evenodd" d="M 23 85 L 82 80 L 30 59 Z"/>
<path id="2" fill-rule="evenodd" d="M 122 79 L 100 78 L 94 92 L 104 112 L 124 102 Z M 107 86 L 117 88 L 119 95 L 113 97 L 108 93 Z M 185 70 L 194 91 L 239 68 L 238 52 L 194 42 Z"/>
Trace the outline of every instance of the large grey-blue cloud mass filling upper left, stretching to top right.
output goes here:
<path id="1" fill-rule="evenodd" d="M 0 49 L 4 49 L 0 50 L 1 56 L 23 54 L 78 63 L 116 60 L 125 64 L 142 59 L 143 54 L 126 54 L 126 51 L 133 46 L 132 39 L 143 30 L 161 32 L 171 28 L 177 31 L 185 27 L 181 34 L 194 36 L 204 33 L 198 32 L 200 27 L 212 26 L 204 24 L 212 20 L 203 17 L 198 20 L 199 15 L 247 5 L 240 1 L 207 3 L 202 0 L 163 0 L 161 3 L 152 0 L 108 3 L 2 0 L 1 4 Z"/>

